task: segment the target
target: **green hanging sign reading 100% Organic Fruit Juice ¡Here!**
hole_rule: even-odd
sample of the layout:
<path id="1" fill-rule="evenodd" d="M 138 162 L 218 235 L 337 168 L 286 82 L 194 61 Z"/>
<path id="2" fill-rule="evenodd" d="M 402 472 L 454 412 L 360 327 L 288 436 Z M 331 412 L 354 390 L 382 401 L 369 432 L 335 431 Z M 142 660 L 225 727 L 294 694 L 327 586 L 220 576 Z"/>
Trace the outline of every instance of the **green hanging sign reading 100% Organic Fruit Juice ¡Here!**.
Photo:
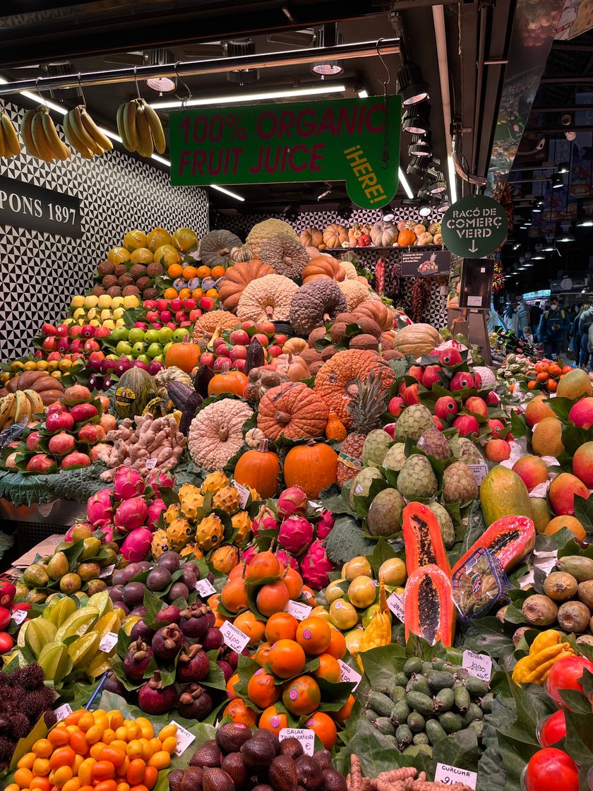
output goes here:
<path id="1" fill-rule="evenodd" d="M 398 189 L 399 96 L 169 113 L 171 183 L 346 181 L 349 199 L 380 209 Z"/>

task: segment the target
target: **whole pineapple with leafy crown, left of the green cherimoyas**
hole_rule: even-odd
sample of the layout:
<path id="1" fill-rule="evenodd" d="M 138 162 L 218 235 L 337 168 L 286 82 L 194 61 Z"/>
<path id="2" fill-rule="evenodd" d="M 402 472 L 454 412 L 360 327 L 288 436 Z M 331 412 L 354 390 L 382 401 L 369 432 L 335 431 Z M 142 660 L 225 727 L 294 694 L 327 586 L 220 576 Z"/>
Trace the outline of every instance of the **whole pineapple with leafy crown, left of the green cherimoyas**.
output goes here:
<path id="1" fill-rule="evenodd" d="M 348 411 L 352 416 L 352 430 L 342 443 L 338 456 L 338 483 L 343 486 L 362 468 L 362 446 L 367 435 L 380 427 L 385 410 L 385 396 L 381 395 L 381 377 L 368 375 L 364 384 L 356 380 L 357 392 L 350 399 Z"/>

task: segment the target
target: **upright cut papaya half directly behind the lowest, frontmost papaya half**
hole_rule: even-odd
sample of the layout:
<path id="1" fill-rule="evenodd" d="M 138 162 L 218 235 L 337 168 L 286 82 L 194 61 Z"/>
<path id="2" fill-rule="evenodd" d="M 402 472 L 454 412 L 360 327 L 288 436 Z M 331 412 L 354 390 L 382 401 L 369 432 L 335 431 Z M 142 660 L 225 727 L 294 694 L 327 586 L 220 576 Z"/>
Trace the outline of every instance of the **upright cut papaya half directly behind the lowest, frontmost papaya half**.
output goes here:
<path id="1" fill-rule="evenodd" d="M 434 563 L 451 578 L 451 566 L 440 524 L 428 505 L 421 502 L 409 502 L 406 505 L 402 512 L 402 533 L 408 577 L 418 566 Z"/>

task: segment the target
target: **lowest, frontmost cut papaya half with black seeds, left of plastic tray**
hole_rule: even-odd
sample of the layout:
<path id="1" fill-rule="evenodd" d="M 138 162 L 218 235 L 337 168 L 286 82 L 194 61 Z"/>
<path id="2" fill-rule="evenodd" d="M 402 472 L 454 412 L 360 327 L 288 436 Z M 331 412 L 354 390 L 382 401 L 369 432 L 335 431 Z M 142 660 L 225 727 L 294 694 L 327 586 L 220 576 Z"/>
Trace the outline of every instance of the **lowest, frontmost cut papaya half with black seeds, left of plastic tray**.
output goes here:
<path id="1" fill-rule="evenodd" d="M 455 606 L 453 589 L 446 573 L 434 563 L 419 566 L 406 582 L 404 596 L 406 642 L 412 634 L 430 645 L 439 640 L 453 645 L 455 637 Z"/>

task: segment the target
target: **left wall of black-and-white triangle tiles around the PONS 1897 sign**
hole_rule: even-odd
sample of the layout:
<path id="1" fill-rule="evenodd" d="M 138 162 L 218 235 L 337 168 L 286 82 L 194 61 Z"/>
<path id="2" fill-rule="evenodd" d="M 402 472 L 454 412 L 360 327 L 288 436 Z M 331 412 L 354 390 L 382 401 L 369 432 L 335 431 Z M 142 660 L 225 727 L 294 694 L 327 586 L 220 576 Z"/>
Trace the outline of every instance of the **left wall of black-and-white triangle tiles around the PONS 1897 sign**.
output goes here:
<path id="1" fill-rule="evenodd" d="M 3 110 L 18 128 L 25 109 Z M 63 137 L 62 127 L 59 134 Z M 168 172 L 120 150 L 85 160 L 47 163 L 23 151 L 0 160 L 0 174 L 81 202 L 81 239 L 0 225 L 0 360 L 27 354 L 44 321 L 66 316 L 70 300 L 89 288 L 93 270 L 128 230 L 180 226 L 208 231 L 208 197 L 198 187 L 171 187 Z"/>

